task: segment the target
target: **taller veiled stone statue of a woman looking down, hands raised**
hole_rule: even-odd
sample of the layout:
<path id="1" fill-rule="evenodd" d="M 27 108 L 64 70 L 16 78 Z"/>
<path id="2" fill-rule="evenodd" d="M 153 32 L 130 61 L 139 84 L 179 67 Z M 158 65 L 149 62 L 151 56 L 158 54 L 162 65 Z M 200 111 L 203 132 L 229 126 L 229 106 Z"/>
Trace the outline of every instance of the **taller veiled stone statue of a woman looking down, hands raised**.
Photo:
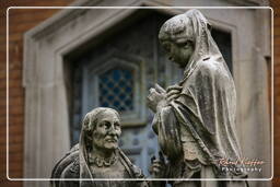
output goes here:
<path id="1" fill-rule="evenodd" d="M 236 130 L 233 78 L 198 10 L 167 20 L 159 39 L 172 61 L 185 69 L 184 78 L 165 91 L 150 89 L 148 106 L 153 129 L 168 163 L 153 164 L 163 178 L 246 178 L 241 164 L 222 168 L 220 161 L 241 155 Z M 164 171 L 164 173 L 162 172 Z M 180 187 L 246 186 L 246 182 L 174 182 Z"/>

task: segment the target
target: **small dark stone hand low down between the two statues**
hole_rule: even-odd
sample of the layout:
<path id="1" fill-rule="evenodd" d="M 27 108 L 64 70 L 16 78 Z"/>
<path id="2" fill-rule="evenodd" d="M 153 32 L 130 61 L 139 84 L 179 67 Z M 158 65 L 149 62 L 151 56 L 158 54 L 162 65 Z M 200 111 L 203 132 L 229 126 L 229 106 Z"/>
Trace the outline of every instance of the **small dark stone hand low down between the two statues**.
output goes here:
<path id="1" fill-rule="evenodd" d="M 165 178 L 166 170 L 167 166 L 165 164 L 162 152 L 160 152 L 160 159 L 155 159 L 155 156 L 151 157 L 151 166 L 149 172 L 153 178 Z"/>

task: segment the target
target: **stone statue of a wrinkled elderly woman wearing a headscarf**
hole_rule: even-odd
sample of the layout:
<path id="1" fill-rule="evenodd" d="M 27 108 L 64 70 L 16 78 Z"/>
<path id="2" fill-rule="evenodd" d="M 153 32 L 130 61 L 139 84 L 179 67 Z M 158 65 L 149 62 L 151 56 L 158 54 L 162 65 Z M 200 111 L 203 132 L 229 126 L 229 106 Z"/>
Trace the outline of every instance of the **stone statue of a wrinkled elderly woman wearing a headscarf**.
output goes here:
<path id="1" fill-rule="evenodd" d="M 121 133 L 119 114 L 98 107 L 88 113 L 82 122 L 79 144 L 74 145 L 54 167 L 51 178 L 90 180 L 55 180 L 54 187 L 144 187 L 144 180 L 91 180 L 92 178 L 143 178 L 118 148 Z"/>

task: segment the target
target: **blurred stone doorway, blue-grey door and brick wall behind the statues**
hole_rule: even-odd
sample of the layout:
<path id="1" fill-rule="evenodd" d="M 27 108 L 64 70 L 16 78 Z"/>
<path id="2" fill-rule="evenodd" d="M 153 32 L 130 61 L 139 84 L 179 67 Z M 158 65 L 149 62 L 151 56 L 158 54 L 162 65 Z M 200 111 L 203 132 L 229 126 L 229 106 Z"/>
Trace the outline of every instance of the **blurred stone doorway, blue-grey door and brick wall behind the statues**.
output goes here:
<path id="1" fill-rule="evenodd" d="M 9 182 L 7 167 L 7 44 L 9 7 L 104 7 L 103 9 L 9 10 L 9 177 L 48 178 L 55 163 L 78 143 L 83 116 L 94 107 L 120 112 L 119 145 L 149 176 L 159 147 L 153 114 L 145 96 L 154 83 L 166 87 L 182 79 L 164 55 L 158 33 L 170 17 L 187 9 L 145 7 L 273 8 L 275 74 L 271 70 L 270 9 L 199 9 L 212 24 L 212 36 L 234 78 L 237 92 L 237 136 L 244 156 L 266 162 L 253 178 L 271 176 L 271 116 L 275 114 L 275 179 L 252 186 L 278 186 L 277 144 L 278 39 L 280 3 L 261 0 L 201 1 L 1 1 L 0 156 L 1 186 L 48 186 L 48 182 Z M 109 9 L 136 5 L 142 9 Z M 271 103 L 271 77 L 275 101 Z M 275 110 L 271 105 L 275 104 Z M 279 133 L 278 133 L 279 132 Z M 279 171 L 279 172 L 278 172 Z"/>

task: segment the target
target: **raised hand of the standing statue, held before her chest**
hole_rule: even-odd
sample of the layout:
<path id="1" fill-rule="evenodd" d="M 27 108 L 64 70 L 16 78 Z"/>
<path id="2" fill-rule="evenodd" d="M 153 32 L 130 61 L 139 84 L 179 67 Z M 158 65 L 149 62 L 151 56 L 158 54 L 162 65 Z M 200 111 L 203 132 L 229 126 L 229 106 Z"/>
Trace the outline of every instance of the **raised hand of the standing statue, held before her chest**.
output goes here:
<path id="1" fill-rule="evenodd" d="M 147 105 L 151 110 L 155 113 L 156 108 L 163 107 L 166 104 L 167 102 L 165 92 L 158 92 L 158 90 L 153 87 L 150 89 L 150 93 L 147 96 Z"/>

